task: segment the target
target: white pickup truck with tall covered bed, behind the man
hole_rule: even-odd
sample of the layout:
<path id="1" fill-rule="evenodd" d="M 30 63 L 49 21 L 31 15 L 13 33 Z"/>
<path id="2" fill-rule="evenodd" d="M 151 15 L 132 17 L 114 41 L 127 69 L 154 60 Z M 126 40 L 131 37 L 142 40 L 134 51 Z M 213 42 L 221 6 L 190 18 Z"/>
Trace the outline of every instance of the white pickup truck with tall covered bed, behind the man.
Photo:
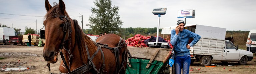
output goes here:
<path id="1" fill-rule="evenodd" d="M 165 32 L 170 31 L 175 29 L 175 27 L 176 26 L 166 27 L 162 29 L 162 32 L 163 30 Z M 191 64 L 194 61 L 199 61 L 202 66 L 209 66 L 211 60 L 216 60 L 223 63 L 238 62 L 245 65 L 248 61 L 253 59 L 252 52 L 238 49 L 238 46 L 235 47 L 231 41 L 225 40 L 225 28 L 186 24 L 185 29 L 201 36 L 201 39 L 190 48 Z M 192 40 L 193 38 L 190 38 L 188 42 Z"/>

